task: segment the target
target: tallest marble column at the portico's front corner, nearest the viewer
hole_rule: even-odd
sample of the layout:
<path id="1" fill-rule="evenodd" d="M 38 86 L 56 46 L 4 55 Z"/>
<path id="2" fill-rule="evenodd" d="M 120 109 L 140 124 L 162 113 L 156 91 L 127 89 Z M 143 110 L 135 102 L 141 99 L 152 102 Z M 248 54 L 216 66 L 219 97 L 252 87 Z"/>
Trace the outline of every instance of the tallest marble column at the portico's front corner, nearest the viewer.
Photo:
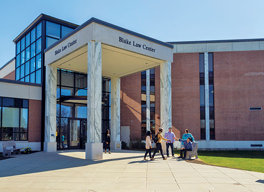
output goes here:
<path id="1" fill-rule="evenodd" d="M 87 43 L 87 143 L 85 159 L 102 159 L 102 45 Z"/>

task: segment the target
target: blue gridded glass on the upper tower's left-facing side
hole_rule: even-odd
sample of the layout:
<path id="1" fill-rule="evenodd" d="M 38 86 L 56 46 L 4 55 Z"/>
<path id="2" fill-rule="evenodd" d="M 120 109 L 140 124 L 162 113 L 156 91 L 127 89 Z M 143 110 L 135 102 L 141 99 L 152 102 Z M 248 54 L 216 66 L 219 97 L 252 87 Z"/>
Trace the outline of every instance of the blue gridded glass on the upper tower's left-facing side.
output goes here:
<path id="1" fill-rule="evenodd" d="M 41 84 L 42 22 L 16 42 L 16 81 Z"/>

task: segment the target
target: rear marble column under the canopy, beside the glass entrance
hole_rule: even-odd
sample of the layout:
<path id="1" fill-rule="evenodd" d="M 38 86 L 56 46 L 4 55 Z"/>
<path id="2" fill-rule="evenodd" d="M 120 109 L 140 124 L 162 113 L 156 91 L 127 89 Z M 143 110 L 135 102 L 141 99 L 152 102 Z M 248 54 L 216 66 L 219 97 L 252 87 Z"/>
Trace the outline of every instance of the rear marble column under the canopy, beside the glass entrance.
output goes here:
<path id="1" fill-rule="evenodd" d="M 111 78 L 111 149 L 121 149 L 120 78 Z"/>

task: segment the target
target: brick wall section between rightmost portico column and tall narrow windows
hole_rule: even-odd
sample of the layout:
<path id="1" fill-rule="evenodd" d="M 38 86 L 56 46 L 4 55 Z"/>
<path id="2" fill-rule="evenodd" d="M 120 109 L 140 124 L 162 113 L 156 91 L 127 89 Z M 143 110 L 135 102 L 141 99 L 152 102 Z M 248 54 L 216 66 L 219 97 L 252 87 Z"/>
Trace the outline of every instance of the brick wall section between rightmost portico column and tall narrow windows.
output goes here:
<path id="1" fill-rule="evenodd" d="M 173 54 L 171 64 L 172 129 L 179 138 L 188 129 L 201 138 L 199 53 Z"/>

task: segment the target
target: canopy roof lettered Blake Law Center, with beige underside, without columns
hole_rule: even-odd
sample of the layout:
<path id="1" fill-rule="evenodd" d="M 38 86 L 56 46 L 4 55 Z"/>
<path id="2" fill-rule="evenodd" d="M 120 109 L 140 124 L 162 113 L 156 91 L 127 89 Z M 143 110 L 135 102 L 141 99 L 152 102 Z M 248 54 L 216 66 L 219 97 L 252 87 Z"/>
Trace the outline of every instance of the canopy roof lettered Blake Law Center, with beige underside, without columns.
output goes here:
<path id="1" fill-rule="evenodd" d="M 45 65 L 87 73 L 87 43 L 102 43 L 102 76 L 124 77 L 163 61 L 173 45 L 91 18 L 45 50 Z"/>

